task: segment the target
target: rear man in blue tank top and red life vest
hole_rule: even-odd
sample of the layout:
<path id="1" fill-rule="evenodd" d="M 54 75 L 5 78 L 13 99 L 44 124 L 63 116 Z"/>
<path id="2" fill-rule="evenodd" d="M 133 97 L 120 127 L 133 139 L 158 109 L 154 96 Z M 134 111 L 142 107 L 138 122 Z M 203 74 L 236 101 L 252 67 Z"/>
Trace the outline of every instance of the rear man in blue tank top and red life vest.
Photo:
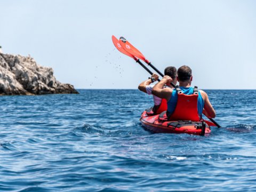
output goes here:
<path id="1" fill-rule="evenodd" d="M 193 76 L 190 67 L 181 66 L 178 69 L 177 80 L 179 86 L 175 89 L 163 88 L 164 84 L 173 81 L 172 77 L 165 75 L 152 90 L 152 94 L 166 99 L 166 115 L 170 121 L 199 121 L 202 119 L 202 114 L 208 118 L 216 116 L 208 95 L 203 90 L 198 90 L 196 86 L 191 86 Z"/>

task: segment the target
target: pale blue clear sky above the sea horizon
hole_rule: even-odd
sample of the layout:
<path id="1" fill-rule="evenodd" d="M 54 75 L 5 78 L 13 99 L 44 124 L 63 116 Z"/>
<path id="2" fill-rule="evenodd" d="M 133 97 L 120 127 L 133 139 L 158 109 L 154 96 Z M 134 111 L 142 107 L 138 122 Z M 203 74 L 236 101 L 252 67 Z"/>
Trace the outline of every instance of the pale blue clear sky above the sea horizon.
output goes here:
<path id="1" fill-rule="evenodd" d="M 137 89 L 149 74 L 119 53 L 124 36 L 159 70 L 188 65 L 202 89 L 256 89 L 256 1 L 1 1 L 4 53 L 28 55 L 77 89 Z"/>

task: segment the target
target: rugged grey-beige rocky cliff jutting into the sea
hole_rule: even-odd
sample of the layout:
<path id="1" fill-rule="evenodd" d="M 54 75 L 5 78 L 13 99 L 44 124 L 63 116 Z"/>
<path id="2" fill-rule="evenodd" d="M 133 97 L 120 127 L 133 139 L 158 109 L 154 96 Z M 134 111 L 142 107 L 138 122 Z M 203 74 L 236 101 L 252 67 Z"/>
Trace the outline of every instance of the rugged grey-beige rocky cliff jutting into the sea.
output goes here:
<path id="1" fill-rule="evenodd" d="M 78 93 L 73 85 L 60 83 L 53 69 L 39 66 L 21 55 L 0 53 L 0 95 Z"/>

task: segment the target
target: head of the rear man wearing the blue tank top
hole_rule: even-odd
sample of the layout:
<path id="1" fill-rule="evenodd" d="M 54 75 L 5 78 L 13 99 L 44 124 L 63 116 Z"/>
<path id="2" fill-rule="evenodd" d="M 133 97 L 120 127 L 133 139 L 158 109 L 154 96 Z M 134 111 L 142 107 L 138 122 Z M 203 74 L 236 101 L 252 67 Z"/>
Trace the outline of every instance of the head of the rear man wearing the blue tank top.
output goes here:
<path id="1" fill-rule="evenodd" d="M 183 65 L 177 71 L 179 86 L 189 87 L 193 80 L 192 70 L 190 67 Z"/>

